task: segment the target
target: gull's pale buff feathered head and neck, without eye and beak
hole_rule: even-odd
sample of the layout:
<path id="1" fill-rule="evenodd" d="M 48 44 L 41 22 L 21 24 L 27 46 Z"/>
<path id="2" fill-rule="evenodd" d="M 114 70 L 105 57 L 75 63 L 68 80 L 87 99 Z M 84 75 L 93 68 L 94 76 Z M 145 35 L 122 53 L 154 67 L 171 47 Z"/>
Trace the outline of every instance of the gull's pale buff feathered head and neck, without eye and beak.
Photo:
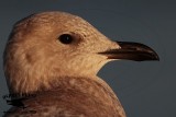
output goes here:
<path id="1" fill-rule="evenodd" d="M 72 44 L 59 36 L 69 34 Z M 119 48 L 79 16 L 44 12 L 18 22 L 4 51 L 4 72 L 11 93 L 50 89 L 59 77 L 96 77 L 109 61 L 100 51 Z"/>

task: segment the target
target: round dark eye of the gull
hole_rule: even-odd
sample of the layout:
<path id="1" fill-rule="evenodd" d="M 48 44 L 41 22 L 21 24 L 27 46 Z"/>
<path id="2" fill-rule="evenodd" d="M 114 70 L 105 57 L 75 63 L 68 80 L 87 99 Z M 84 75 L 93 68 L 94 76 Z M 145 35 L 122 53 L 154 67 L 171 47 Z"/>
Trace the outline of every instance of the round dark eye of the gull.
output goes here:
<path id="1" fill-rule="evenodd" d="M 73 42 L 73 37 L 69 34 L 63 34 L 59 36 L 59 40 L 63 44 L 70 44 Z"/>

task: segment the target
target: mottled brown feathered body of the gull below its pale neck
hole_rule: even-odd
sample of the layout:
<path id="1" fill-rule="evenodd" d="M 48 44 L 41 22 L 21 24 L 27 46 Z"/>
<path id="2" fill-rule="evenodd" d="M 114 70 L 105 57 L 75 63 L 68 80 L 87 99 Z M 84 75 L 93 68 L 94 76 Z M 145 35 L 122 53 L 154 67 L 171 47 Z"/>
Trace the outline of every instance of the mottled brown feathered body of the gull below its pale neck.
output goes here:
<path id="1" fill-rule="evenodd" d="M 75 83 L 72 83 L 74 80 Z M 24 101 L 26 109 L 15 108 L 12 116 L 36 110 L 33 117 L 124 117 L 124 112 L 108 85 L 88 78 L 62 78 L 58 86 L 36 92 Z M 90 91 L 90 89 L 94 89 Z M 119 109 L 120 108 L 120 109 Z M 47 116 L 46 116 L 47 115 Z M 11 117 L 11 116 L 8 116 Z"/>

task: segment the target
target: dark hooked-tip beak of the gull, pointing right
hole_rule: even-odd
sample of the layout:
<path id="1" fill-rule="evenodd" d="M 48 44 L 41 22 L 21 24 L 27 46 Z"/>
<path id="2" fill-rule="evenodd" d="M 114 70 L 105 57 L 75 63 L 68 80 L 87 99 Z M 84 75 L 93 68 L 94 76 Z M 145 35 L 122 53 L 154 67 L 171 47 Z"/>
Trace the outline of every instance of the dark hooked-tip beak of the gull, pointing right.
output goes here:
<path id="1" fill-rule="evenodd" d="M 130 42 L 117 42 L 121 48 L 102 51 L 108 59 L 125 59 L 125 60 L 160 60 L 157 54 L 143 44 Z"/>

